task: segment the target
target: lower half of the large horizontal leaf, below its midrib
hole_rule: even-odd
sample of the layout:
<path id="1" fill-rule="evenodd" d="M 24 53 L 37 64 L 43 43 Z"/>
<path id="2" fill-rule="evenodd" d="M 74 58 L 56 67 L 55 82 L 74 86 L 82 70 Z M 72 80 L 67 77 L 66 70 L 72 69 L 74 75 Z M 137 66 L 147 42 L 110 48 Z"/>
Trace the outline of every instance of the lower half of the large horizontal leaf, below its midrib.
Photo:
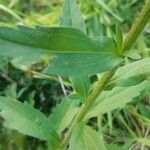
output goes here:
<path id="1" fill-rule="evenodd" d="M 44 73 L 62 76 L 88 76 L 105 72 L 116 66 L 120 61 L 121 59 L 117 59 L 117 57 L 109 57 L 109 55 L 101 55 L 100 53 L 57 54 L 44 70 Z"/>

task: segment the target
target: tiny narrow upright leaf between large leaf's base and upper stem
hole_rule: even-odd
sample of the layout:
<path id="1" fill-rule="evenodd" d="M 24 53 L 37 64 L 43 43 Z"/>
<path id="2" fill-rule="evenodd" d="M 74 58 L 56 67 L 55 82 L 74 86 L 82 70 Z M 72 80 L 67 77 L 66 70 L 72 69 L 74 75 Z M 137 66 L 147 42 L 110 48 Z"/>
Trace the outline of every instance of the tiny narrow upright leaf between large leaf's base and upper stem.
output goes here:
<path id="1" fill-rule="evenodd" d="M 121 52 L 123 44 L 123 32 L 118 24 L 116 25 L 116 44 L 118 52 Z"/>

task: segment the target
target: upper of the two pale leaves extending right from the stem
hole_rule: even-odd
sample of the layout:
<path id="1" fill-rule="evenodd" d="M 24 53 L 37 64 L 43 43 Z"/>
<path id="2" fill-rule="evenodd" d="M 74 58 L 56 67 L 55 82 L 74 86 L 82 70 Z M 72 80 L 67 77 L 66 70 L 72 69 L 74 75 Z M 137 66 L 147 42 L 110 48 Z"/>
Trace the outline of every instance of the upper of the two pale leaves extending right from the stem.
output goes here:
<path id="1" fill-rule="evenodd" d="M 147 76 L 150 74 L 150 58 L 144 58 L 139 61 L 132 62 L 123 67 L 120 67 L 109 84 L 117 83 L 126 83 L 121 85 L 129 85 L 131 83 L 138 83 L 144 81 Z M 130 83 L 130 84 L 131 84 Z"/>

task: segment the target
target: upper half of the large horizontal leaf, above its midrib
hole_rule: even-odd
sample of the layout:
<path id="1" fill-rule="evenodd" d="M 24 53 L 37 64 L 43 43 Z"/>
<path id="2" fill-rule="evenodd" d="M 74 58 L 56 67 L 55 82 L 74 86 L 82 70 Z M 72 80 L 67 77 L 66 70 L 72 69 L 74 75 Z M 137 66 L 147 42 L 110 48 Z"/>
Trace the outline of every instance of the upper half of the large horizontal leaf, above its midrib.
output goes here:
<path id="1" fill-rule="evenodd" d="M 96 42 L 80 30 L 69 27 L 0 27 L 0 39 L 10 44 L 15 43 L 18 46 L 34 47 L 48 52 L 115 53 L 115 45 L 110 39 L 105 38 L 101 42 Z"/>

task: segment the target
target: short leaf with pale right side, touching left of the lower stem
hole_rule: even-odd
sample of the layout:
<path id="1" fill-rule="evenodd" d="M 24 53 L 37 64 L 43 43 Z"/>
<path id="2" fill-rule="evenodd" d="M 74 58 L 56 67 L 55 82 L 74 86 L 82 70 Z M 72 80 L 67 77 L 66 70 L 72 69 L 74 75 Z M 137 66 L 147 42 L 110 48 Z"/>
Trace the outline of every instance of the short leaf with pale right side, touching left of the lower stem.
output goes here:
<path id="1" fill-rule="evenodd" d="M 54 128 L 58 134 L 67 128 L 72 119 L 79 110 L 80 98 L 77 95 L 65 97 L 60 104 L 54 108 L 49 116 L 49 125 Z"/>

